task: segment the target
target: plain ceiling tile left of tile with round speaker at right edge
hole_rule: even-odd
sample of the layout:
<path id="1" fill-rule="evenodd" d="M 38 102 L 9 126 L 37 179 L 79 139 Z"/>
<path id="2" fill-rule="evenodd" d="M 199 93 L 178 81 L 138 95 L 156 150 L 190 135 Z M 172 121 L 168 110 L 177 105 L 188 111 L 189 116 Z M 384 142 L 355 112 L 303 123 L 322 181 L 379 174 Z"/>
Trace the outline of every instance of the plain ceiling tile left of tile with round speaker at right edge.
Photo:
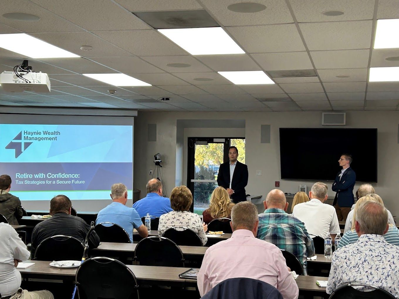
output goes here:
<path id="1" fill-rule="evenodd" d="M 369 50 L 310 51 L 316 69 L 358 69 L 368 65 Z"/>

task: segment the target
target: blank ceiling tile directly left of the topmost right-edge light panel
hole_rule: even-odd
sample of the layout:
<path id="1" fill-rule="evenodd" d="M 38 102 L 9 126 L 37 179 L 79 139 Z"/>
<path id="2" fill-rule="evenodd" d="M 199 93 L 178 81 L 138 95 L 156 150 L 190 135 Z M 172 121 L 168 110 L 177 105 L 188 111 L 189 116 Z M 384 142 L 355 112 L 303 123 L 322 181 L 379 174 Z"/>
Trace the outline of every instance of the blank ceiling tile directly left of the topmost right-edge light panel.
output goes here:
<path id="1" fill-rule="evenodd" d="M 302 23 L 309 51 L 369 49 L 373 21 Z"/>

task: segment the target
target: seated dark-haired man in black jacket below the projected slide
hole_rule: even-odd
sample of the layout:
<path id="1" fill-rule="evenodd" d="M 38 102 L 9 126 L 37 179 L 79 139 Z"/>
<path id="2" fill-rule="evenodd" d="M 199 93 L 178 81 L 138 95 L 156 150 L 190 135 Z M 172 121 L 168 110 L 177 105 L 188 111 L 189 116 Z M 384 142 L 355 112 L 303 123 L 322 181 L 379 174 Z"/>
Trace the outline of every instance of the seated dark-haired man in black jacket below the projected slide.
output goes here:
<path id="1" fill-rule="evenodd" d="M 84 242 L 90 226 L 80 217 L 71 215 L 72 203 L 65 195 L 57 195 L 50 201 L 50 215 L 48 218 L 35 226 L 32 232 L 32 258 L 35 256 L 36 248 L 45 238 L 65 235 L 77 238 Z M 89 239 L 90 248 L 97 248 L 100 238 L 96 232 L 92 232 Z"/>

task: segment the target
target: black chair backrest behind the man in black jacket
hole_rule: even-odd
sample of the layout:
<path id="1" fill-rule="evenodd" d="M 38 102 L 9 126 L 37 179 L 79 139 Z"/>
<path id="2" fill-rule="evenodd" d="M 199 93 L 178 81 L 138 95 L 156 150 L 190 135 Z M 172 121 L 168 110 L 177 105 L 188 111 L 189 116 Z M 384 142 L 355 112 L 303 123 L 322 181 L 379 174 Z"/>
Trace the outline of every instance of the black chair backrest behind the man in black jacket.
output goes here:
<path id="1" fill-rule="evenodd" d="M 34 260 L 38 261 L 80 261 L 83 256 L 83 244 L 74 237 L 57 235 L 45 238 L 36 248 Z"/>

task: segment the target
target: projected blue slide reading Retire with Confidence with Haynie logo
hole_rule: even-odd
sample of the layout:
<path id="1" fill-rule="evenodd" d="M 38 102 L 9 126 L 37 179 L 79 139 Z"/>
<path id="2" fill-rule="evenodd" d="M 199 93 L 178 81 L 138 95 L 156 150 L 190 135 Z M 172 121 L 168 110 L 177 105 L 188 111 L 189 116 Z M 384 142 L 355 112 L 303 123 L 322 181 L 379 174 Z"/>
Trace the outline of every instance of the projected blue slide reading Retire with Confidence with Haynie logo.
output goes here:
<path id="1" fill-rule="evenodd" d="M 0 124 L 0 173 L 22 201 L 109 199 L 133 189 L 133 126 Z"/>

